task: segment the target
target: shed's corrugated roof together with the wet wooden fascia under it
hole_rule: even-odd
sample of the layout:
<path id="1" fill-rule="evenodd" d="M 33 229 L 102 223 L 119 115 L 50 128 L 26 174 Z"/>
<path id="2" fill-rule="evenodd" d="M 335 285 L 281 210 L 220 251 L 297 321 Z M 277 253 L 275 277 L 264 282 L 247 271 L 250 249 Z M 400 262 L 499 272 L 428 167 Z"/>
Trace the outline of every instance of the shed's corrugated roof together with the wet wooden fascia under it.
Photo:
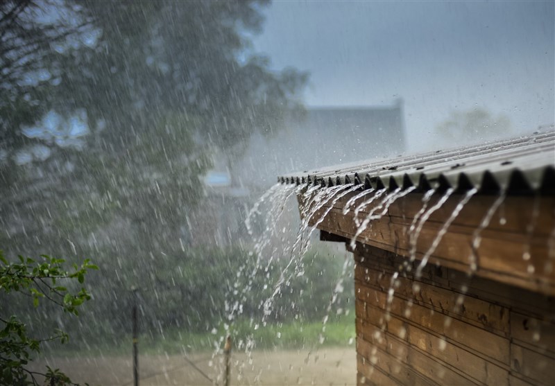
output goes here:
<path id="1" fill-rule="evenodd" d="M 389 193 L 411 188 L 411 193 L 393 202 L 384 216 L 370 222 L 356 240 L 357 247 L 372 245 L 407 258 L 411 257 L 409 228 L 422 208 L 424 193 L 435 189 L 428 204 L 432 207 L 445 191 L 452 189 L 454 193 L 447 202 L 422 227 L 413 256 L 417 260 L 425 256 L 466 192 L 475 189 L 477 194 L 448 227 L 429 256 L 428 264 L 452 267 L 555 295 L 554 128 L 476 146 L 293 173 L 278 180 L 307 187 L 362 184 L 364 187 L 360 191 L 368 189 L 370 192 L 385 189 Z M 349 245 L 357 233 L 353 209 L 374 194 L 370 192 L 357 200 L 345 215 L 343 207 L 359 191 L 339 200 L 330 199 L 334 207 L 318 224 L 318 229 L 323 232 L 322 239 L 346 241 Z M 488 226 L 479 232 L 481 242 L 473 251 L 477 229 L 499 195 L 506 197 Z M 359 218 L 364 220 L 370 211 L 382 204 L 385 196 L 361 211 Z M 310 204 L 310 198 L 304 197 L 302 194 L 298 196 L 301 209 Z M 310 225 L 314 225 L 328 208 L 325 205 L 311 216 Z M 476 263 L 475 270 L 472 261 Z"/>

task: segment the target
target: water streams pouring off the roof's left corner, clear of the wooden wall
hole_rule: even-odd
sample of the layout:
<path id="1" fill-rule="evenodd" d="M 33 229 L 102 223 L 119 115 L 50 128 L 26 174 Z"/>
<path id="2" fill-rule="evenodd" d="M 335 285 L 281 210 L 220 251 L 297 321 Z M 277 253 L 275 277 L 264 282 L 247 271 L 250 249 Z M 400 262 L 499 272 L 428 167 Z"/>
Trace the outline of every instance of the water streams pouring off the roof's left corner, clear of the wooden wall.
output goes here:
<path id="1" fill-rule="evenodd" d="M 253 331 L 266 327 L 268 317 L 275 311 L 273 310 L 274 301 L 281 294 L 283 286 L 289 286 L 292 280 L 302 275 L 302 258 L 310 245 L 311 234 L 314 229 L 325 220 L 336 202 L 363 186 L 363 184 L 346 184 L 325 188 L 323 186 L 293 186 L 292 184 L 275 185 L 255 202 L 253 208 L 250 209 L 246 216 L 245 226 L 250 236 L 253 237 L 253 252 L 250 253 L 250 256 L 255 258 L 256 262 L 253 270 L 248 271 L 248 264 L 245 263 L 232 276 L 232 283 L 230 283 L 230 290 L 225 301 L 227 313 L 227 319 L 223 322 L 225 335 L 229 334 L 232 338 L 236 337 L 234 336 L 237 335 L 233 328 L 234 322 L 239 320 L 239 317 L 244 314 L 245 303 L 248 301 L 248 293 L 255 290 L 255 278 L 260 274 L 266 277 L 267 283 L 265 286 L 272 288 L 272 290 L 271 295 L 259 305 L 263 310 L 262 319 L 253 320 L 251 318 L 251 324 Z M 284 240 L 282 234 L 285 229 L 278 227 L 280 217 L 286 210 L 286 203 L 293 195 L 300 195 L 301 203 L 301 222 L 294 241 L 293 239 Z M 256 234 L 255 224 L 257 228 L 262 229 L 261 234 Z M 276 245 L 276 240 L 280 240 L 278 245 Z M 283 258 L 285 260 L 280 261 L 282 264 L 279 266 L 283 268 L 280 268 L 280 271 L 278 271 L 278 279 L 271 279 L 268 272 L 275 270 L 275 267 L 277 267 L 273 263 Z M 345 261 L 342 269 L 343 274 L 336 281 L 334 288 L 330 288 L 332 295 L 327 308 L 323 310 L 325 315 L 322 317 L 322 330 L 319 334 L 318 342 L 314 342 L 315 344 L 321 344 L 325 339 L 327 320 L 336 305 L 338 296 L 343 290 L 345 276 L 348 274 L 348 268 L 352 267 L 352 264 L 353 262 L 350 259 Z M 250 306 L 252 307 L 253 305 Z M 342 312 L 342 310 L 337 310 L 337 313 Z M 216 333 L 216 328 L 212 331 Z M 278 338 L 280 338 L 280 334 L 278 332 Z M 225 340 L 225 335 L 219 337 L 218 342 L 214 342 L 214 347 L 217 348 L 212 355 L 213 358 L 216 358 L 217 354 L 221 354 L 221 344 Z M 255 348 L 254 333 L 250 333 L 246 339 L 237 342 L 237 346 L 247 354 L 245 362 L 237 364 L 239 369 L 238 376 L 240 377 L 241 369 L 252 366 L 253 363 L 252 351 Z M 316 360 L 318 356 L 313 358 Z"/>

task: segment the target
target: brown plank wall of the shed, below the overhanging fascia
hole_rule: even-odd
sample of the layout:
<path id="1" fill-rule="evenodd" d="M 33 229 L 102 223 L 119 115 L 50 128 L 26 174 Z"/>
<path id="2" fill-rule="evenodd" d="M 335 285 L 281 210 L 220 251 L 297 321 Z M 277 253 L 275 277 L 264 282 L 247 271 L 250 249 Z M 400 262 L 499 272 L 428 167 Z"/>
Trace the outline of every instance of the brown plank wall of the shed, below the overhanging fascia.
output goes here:
<path id="1" fill-rule="evenodd" d="M 355 259 L 359 385 L 555 385 L 555 297 L 436 265 L 395 279 L 407 258 L 369 245 Z"/>

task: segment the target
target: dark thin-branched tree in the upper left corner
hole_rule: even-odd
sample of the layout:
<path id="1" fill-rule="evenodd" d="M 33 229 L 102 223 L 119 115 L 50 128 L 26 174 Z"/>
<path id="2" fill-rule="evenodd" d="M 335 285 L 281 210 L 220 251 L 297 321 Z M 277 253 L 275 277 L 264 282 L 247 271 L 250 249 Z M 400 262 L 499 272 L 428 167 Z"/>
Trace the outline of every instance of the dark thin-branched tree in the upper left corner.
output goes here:
<path id="1" fill-rule="evenodd" d="M 24 128 L 51 108 L 49 95 L 63 71 L 60 50 L 74 54 L 91 28 L 71 3 L 0 2 L 0 166 L 13 166 L 22 148 L 49 144 L 26 136 Z"/>

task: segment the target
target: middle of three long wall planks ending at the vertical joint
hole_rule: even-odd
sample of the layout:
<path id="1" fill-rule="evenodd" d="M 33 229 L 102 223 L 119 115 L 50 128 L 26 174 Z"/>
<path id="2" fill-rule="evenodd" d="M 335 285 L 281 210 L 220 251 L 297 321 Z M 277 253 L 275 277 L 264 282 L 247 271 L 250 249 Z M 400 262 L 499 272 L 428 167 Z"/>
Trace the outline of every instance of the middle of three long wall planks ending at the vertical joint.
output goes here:
<path id="1" fill-rule="evenodd" d="M 359 300 L 379 308 L 382 313 L 385 312 L 387 295 L 384 292 L 366 287 L 359 281 L 355 281 L 355 288 L 357 288 L 355 294 Z M 436 313 L 433 309 L 419 304 L 413 304 L 407 308 L 406 302 L 395 296 L 391 302 L 390 312 L 402 320 L 413 322 L 422 328 L 427 328 L 428 331 L 444 335 L 446 340 L 452 340 L 462 347 L 488 356 L 492 362 L 498 361 L 500 364 L 509 365 L 509 340 L 504 337 L 459 319 Z"/>

